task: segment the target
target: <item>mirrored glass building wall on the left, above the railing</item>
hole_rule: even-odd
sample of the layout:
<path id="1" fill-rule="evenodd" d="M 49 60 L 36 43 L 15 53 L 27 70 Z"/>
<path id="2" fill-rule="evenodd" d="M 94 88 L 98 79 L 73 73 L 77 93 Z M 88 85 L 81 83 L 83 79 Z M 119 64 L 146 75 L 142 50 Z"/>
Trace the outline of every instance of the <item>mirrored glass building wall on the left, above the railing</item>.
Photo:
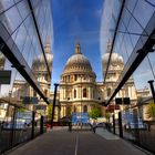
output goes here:
<path id="1" fill-rule="evenodd" d="M 0 111 L 7 110 L 8 102 L 31 110 L 35 103 L 50 103 L 52 42 L 49 0 L 0 1 L 0 76 L 10 78 L 0 82 Z"/>

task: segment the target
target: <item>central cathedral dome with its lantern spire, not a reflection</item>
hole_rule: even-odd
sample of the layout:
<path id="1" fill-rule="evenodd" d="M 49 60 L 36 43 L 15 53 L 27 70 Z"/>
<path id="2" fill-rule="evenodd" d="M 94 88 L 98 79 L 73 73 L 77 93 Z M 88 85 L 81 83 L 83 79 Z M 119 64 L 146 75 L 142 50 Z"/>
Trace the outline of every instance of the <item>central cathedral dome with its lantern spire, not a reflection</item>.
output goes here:
<path id="1" fill-rule="evenodd" d="M 81 46 L 79 42 L 75 45 L 75 53 L 69 58 L 63 71 L 63 73 L 70 72 L 89 72 L 94 74 L 90 61 L 81 53 Z"/>

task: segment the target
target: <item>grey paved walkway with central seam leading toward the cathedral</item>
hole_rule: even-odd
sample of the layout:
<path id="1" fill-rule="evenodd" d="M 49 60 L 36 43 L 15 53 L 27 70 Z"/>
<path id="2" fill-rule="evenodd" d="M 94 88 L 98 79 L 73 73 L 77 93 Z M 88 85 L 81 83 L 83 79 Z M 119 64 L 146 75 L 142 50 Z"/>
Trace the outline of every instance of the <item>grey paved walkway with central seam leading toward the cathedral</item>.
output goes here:
<path id="1" fill-rule="evenodd" d="M 146 155 L 146 153 L 102 128 L 97 130 L 96 134 L 91 131 L 68 132 L 66 128 L 59 128 L 37 137 L 9 155 Z"/>

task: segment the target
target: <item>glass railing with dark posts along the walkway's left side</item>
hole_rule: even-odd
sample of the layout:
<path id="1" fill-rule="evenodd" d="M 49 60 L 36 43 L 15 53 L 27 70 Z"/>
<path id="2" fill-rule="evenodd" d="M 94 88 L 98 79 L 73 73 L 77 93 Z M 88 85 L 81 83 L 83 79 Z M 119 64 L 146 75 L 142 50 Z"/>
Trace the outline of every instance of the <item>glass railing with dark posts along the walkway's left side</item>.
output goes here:
<path id="1" fill-rule="evenodd" d="M 45 132 L 41 114 L 20 105 L 0 103 L 0 154 Z"/>

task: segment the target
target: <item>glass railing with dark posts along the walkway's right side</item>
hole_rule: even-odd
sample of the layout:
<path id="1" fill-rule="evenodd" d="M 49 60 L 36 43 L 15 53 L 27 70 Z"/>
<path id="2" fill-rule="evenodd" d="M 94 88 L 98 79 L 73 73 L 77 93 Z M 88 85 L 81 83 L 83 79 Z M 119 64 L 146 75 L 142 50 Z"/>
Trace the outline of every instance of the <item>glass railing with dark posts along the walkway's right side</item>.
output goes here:
<path id="1" fill-rule="evenodd" d="M 137 105 L 115 113 L 106 123 L 106 128 L 132 143 L 155 153 L 155 121 L 144 118 L 144 106 Z"/>

